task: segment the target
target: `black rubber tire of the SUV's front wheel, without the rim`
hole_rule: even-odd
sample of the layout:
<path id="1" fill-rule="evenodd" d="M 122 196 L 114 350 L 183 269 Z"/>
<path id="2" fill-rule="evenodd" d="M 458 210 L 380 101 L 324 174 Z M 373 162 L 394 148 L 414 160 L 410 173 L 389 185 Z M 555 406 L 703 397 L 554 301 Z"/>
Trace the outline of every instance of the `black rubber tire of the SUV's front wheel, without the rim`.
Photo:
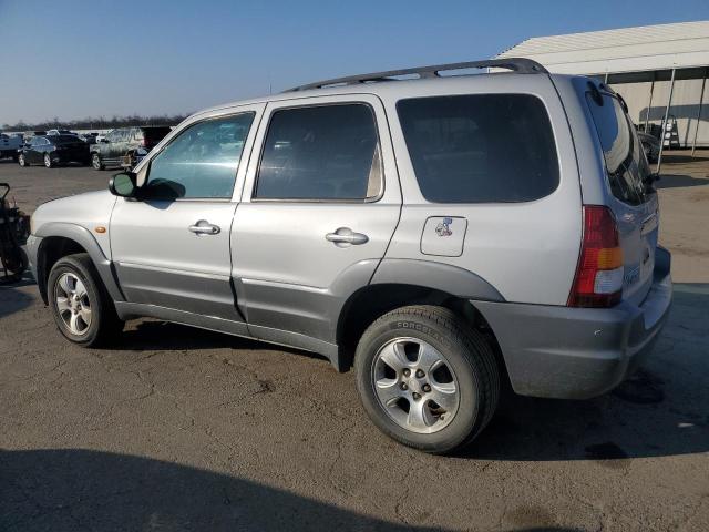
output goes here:
<path id="1" fill-rule="evenodd" d="M 90 303 L 91 323 L 81 335 L 75 335 L 71 331 L 60 315 L 56 303 L 58 290 L 60 290 L 58 283 L 62 275 L 66 273 L 75 275 L 83 283 Z M 123 329 L 123 321 L 119 319 L 111 296 L 103 286 L 99 273 L 86 253 L 60 258 L 49 274 L 47 293 L 56 327 L 66 339 L 74 344 L 83 347 L 96 347 L 107 342 Z"/>

